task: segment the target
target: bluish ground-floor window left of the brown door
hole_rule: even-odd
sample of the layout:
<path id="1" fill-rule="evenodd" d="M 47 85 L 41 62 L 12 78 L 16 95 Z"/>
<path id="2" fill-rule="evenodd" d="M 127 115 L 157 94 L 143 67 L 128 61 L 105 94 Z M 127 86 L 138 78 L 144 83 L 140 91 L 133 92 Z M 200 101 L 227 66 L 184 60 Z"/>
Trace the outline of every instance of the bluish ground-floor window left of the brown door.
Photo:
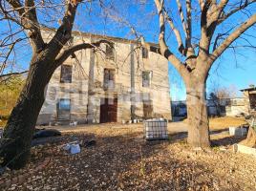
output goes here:
<path id="1" fill-rule="evenodd" d="M 60 98 L 57 103 L 57 118 L 58 119 L 70 119 L 71 112 L 71 99 Z"/>

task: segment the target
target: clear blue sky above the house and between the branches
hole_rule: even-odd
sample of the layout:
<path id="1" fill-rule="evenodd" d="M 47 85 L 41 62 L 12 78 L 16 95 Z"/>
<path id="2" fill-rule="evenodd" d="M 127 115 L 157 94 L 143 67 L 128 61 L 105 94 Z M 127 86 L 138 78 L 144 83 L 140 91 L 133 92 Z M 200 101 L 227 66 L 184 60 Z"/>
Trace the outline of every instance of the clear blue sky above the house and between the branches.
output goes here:
<path id="1" fill-rule="evenodd" d="M 111 0 L 105 1 L 110 2 Z M 82 32 L 95 32 L 100 34 L 107 34 L 112 36 L 124 37 L 135 39 L 136 36 L 131 32 L 131 27 L 138 32 L 139 35 L 143 35 L 147 41 L 158 42 L 159 21 L 156 13 L 156 8 L 153 1 L 141 1 L 144 3 L 139 4 L 138 1 L 112 1 L 111 4 L 106 3 L 106 7 L 101 7 L 97 3 L 86 4 L 79 6 L 75 17 L 75 31 Z M 170 0 L 165 1 L 168 7 L 166 10 L 172 11 L 174 15 L 174 22 L 177 24 L 178 29 L 181 31 L 180 17 L 177 15 L 178 8 L 175 3 L 170 3 Z M 172 1 L 173 2 L 173 1 Z M 256 12 L 256 6 L 250 8 L 251 12 Z M 193 7 L 193 11 L 199 12 L 198 4 Z M 41 9 L 39 12 L 39 20 L 48 27 L 57 27 L 59 18 L 63 13 L 63 8 L 54 8 L 54 10 Z M 200 36 L 199 30 L 199 15 L 193 14 L 195 19 L 192 25 L 193 32 L 196 37 Z M 51 20 L 51 22 L 49 22 Z M 235 27 L 241 21 L 245 20 L 245 14 L 237 14 L 232 20 L 229 20 L 224 26 L 218 29 L 217 32 L 226 32 L 227 28 Z M 0 38 L 4 37 L 4 33 L 9 31 L 8 23 L 0 22 Z M 17 31 L 18 28 L 15 25 L 11 25 L 13 31 Z M 253 35 L 255 33 L 255 26 L 246 33 Z M 182 35 L 182 32 L 181 32 Z M 18 37 L 22 36 L 19 34 Z M 244 36 L 251 45 L 256 47 L 256 37 Z M 166 39 L 169 48 L 177 53 L 176 40 L 174 35 L 166 28 Z M 247 44 L 245 40 L 240 39 L 236 45 Z M 256 52 L 255 49 L 239 48 L 226 51 L 221 58 L 219 58 L 212 67 L 208 80 L 207 90 L 210 92 L 213 84 L 219 84 L 227 89 L 236 87 L 237 90 L 246 88 L 249 84 L 256 85 Z M 26 69 L 29 66 L 29 60 L 31 57 L 31 50 L 26 43 L 20 43 L 15 48 L 15 57 L 11 58 L 18 62 L 20 70 Z M 173 100 L 185 99 L 185 88 L 181 80 L 180 74 L 169 65 L 169 80 Z M 237 91 L 238 96 L 239 91 Z"/>

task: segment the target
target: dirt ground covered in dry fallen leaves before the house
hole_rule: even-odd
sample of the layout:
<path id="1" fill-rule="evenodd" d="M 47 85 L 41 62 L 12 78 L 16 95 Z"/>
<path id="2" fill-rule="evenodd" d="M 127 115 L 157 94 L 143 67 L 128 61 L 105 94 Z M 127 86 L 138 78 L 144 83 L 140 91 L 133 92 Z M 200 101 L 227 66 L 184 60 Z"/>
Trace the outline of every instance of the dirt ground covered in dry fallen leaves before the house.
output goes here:
<path id="1" fill-rule="evenodd" d="M 211 122 L 213 131 L 222 129 L 213 125 L 220 120 Z M 256 158 L 232 153 L 231 144 L 242 138 L 226 131 L 212 134 L 215 146 L 200 150 L 186 144 L 184 122 L 168 125 L 168 140 L 150 142 L 143 139 L 142 124 L 59 129 L 58 142 L 33 147 L 28 167 L 11 173 L 30 171 L 46 157 L 51 157 L 49 166 L 6 190 L 256 190 Z M 96 145 L 82 146 L 73 156 L 60 148 L 77 139 L 95 139 Z"/>

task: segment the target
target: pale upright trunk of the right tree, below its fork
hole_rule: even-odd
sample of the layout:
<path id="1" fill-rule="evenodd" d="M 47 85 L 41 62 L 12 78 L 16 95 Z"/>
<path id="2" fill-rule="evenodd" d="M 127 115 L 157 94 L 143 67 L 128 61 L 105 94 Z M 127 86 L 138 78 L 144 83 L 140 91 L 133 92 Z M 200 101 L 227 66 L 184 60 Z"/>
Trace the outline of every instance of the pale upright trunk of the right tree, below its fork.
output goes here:
<path id="1" fill-rule="evenodd" d="M 205 79 L 190 77 L 186 82 L 188 138 L 190 145 L 209 147 L 209 122 L 205 100 Z"/>

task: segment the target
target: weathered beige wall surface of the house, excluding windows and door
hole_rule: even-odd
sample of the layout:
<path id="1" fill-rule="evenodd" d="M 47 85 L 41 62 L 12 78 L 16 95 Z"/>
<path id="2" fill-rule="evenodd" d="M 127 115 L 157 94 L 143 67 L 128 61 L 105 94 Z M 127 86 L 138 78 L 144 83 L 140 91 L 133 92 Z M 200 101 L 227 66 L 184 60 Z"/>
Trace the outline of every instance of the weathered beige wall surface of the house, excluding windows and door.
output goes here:
<path id="1" fill-rule="evenodd" d="M 43 33 L 45 38 L 48 35 L 48 32 Z M 78 35 L 74 38 L 74 44 L 81 43 L 82 40 L 92 42 L 97 39 L 98 36 Z M 54 72 L 48 85 L 46 101 L 37 120 L 38 124 L 57 120 L 56 104 L 59 98 L 71 99 L 71 120 L 80 123 L 99 122 L 100 98 L 103 97 L 117 97 L 118 122 L 131 119 L 131 41 L 116 38 L 110 40 L 115 43 L 114 61 L 105 59 L 102 52 L 83 50 L 75 53 L 77 59 L 70 57 L 64 63 L 73 66 L 72 83 L 60 83 L 60 67 Z M 133 46 L 137 47 L 136 44 Z M 101 49 L 105 50 L 105 45 Z M 150 98 L 155 117 L 171 119 L 167 60 L 157 53 L 149 53 L 148 58 L 142 58 L 140 49 L 136 49 L 133 59 L 136 116 L 143 117 L 142 100 Z M 116 85 L 112 91 L 103 90 L 104 69 L 116 71 Z M 142 87 L 142 71 L 153 71 L 148 88 Z"/>

